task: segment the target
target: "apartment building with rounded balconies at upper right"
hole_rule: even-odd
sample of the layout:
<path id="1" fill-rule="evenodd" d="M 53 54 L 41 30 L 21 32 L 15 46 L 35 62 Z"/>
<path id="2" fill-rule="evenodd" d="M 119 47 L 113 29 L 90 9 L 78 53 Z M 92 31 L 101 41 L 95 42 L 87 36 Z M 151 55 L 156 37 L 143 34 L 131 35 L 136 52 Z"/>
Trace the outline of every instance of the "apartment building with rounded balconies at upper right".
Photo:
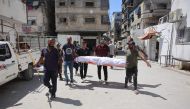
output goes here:
<path id="1" fill-rule="evenodd" d="M 157 25 L 159 18 L 169 13 L 171 0 L 123 0 L 123 36 L 131 30 Z"/>

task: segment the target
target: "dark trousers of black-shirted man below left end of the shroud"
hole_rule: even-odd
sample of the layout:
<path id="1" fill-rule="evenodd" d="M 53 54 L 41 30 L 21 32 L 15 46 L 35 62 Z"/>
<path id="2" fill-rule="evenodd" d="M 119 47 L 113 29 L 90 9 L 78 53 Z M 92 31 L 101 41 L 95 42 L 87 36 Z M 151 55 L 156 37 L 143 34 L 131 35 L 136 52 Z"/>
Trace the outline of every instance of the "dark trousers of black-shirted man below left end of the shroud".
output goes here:
<path id="1" fill-rule="evenodd" d="M 88 69 L 87 63 L 80 63 L 80 77 L 81 77 L 81 79 L 86 78 L 87 69 Z"/>

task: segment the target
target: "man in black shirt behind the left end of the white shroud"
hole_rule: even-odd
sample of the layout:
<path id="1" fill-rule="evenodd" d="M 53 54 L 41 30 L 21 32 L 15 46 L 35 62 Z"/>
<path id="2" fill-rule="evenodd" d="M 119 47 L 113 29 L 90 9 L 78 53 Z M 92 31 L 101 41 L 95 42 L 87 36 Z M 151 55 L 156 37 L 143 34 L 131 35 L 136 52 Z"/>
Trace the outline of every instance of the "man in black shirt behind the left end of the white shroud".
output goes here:
<path id="1" fill-rule="evenodd" d="M 83 42 L 82 47 L 77 51 L 78 56 L 89 56 L 90 55 L 90 50 L 87 47 L 87 42 Z M 86 74 L 87 74 L 87 69 L 88 69 L 88 64 L 87 63 L 79 63 L 80 65 L 80 76 L 81 79 L 85 79 L 86 78 Z"/>

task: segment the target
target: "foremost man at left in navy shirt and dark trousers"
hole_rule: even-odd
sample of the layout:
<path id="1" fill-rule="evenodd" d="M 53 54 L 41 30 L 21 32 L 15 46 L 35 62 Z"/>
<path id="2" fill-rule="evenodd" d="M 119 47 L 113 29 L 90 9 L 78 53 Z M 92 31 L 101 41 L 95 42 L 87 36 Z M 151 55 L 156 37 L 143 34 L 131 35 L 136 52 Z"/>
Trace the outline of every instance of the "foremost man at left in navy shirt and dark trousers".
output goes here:
<path id="1" fill-rule="evenodd" d="M 55 98 L 55 93 L 57 90 L 57 71 L 59 63 L 59 53 L 54 47 L 55 40 L 48 40 L 48 47 L 44 48 L 41 52 L 41 57 L 36 64 L 39 66 L 41 62 L 44 64 L 44 85 L 49 88 L 49 93 L 51 98 Z M 50 84 L 50 80 L 52 84 Z"/>

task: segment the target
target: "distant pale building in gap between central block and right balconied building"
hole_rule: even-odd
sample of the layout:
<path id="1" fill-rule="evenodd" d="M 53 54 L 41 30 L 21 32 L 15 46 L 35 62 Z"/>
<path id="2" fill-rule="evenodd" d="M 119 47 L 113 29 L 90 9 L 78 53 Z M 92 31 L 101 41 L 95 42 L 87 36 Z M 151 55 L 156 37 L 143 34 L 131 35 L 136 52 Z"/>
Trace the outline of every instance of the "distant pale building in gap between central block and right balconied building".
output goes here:
<path id="1" fill-rule="evenodd" d="M 111 17 L 111 38 L 114 41 L 121 40 L 121 12 L 113 12 Z"/>

